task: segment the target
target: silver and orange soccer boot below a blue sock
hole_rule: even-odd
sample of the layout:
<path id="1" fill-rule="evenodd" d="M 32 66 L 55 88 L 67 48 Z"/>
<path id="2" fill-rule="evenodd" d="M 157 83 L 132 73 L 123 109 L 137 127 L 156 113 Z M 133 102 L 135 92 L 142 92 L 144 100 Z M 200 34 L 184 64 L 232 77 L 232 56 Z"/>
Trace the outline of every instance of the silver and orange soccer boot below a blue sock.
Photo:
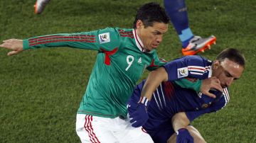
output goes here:
<path id="1" fill-rule="evenodd" d="M 184 56 L 196 55 L 198 52 L 204 52 L 210 50 L 210 45 L 216 43 L 216 37 L 211 35 L 208 38 L 201 38 L 200 36 L 194 36 L 188 43 L 186 48 L 182 48 L 182 54 Z"/>

